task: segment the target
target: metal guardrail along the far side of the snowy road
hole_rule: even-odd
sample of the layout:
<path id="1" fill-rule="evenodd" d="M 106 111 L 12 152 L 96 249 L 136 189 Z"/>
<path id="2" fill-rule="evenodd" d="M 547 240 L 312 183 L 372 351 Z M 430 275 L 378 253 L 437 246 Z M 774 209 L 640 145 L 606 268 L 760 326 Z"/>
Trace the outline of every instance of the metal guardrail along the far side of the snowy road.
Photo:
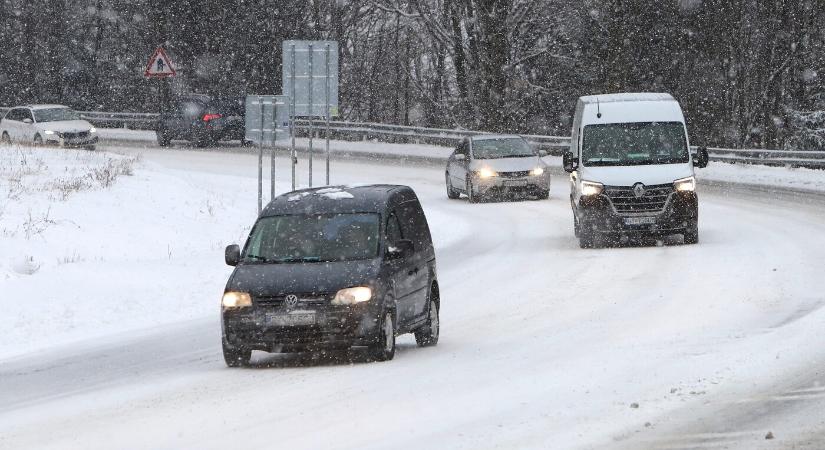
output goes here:
<path id="1" fill-rule="evenodd" d="M 0 107 L 0 114 L 5 114 L 9 108 Z M 131 128 L 138 130 L 154 130 L 158 120 L 157 113 L 126 113 L 126 112 L 99 112 L 79 111 L 80 115 L 99 127 Z M 326 124 L 322 120 L 313 122 L 313 132 L 316 136 L 324 136 Z M 308 120 L 296 120 L 296 129 L 299 134 L 307 135 Z M 383 123 L 366 122 L 330 122 L 331 137 L 344 140 L 381 140 L 400 143 L 422 143 L 434 145 L 455 145 L 467 136 L 485 134 L 482 131 L 425 128 L 405 125 L 387 125 Z M 537 148 L 547 150 L 552 155 L 561 153 L 570 145 L 570 138 L 565 136 L 523 135 L 525 139 Z M 765 149 L 731 149 L 709 147 L 711 161 L 727 162 L 732 164 L 761 164 L 769 166 L 807 167 L 825 169 L 824 151 L 785 151 Z"/>

